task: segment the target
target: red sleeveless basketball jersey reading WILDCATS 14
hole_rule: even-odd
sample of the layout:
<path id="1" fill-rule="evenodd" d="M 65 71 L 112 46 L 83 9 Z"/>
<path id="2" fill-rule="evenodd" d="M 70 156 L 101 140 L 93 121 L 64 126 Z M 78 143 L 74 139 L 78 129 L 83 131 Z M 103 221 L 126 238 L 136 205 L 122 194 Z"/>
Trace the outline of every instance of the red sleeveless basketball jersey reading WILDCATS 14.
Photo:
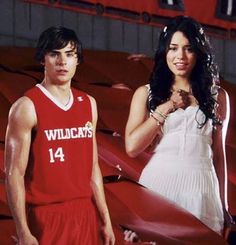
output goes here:
<path id="1" fill-rule="evenodd" d="M 71 89 L 61 105 L 41 85 L 27 91 L 35 106 L 37 128 L 25 176 L 26 200 L 49 204 L 91 197 L 92 112 L 89 97 Z"/>

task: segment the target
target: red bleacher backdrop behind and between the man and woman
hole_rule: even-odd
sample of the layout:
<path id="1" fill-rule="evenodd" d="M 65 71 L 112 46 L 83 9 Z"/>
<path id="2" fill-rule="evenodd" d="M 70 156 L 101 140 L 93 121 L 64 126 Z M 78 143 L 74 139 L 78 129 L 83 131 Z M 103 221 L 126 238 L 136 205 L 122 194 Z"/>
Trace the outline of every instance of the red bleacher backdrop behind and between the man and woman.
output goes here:
<path id="1" fill-rule="evenodd" d="M 4 188 L 4 137 L 11 104 L 43 78 L 33 60 L 33 48 L 0 48 L 0 243 L 12 244 L 15 234 Z M 127 53 L 85 50 L 73 86 L 95 97 L 98 104 L 97 142 L 117 244 L 123 243 L 122 226 L 135 230 L 145 241 L 159 244 L 226 244 L 225 240 L 183 209 L 143 188 L 137 181 L 149 159 L 143 153 L 131 159 L 124 149 L 124 128 L 134 90 L 148 81 L 152 60 Z M 229 206 L 236 215 L 236 85 L 227 81 L 231 118 L 227 136 Z"/>

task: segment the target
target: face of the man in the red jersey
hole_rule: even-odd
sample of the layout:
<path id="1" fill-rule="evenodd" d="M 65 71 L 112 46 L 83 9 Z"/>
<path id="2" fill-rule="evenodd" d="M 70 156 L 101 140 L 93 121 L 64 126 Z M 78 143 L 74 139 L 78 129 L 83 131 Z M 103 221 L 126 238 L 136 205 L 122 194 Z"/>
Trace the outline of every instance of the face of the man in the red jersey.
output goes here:
<path id="1" fill-rule="evenodd" d="M 78 55 L 72 43 L 62 49 L 55 49 L 44 57 L 45 76 L 52 83 L 69 82 L 75 74 Z"/>

